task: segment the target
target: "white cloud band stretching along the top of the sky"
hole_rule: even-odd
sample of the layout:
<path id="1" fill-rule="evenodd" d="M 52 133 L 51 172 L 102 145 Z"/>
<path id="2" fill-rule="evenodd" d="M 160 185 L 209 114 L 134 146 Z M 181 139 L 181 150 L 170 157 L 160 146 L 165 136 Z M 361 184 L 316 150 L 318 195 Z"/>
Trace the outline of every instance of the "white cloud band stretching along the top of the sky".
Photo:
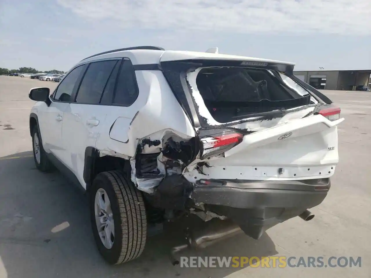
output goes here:
<path id="1" fill-rule="evenodd" d="M 127 29 L 371 34 L 370 0 L 58 0 Z"/>

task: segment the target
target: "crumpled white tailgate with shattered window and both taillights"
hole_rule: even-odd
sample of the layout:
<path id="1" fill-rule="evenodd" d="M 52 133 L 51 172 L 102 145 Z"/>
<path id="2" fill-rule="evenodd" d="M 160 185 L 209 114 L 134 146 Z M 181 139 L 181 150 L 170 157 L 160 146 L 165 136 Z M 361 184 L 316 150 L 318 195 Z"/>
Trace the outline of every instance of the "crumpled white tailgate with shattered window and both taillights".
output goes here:
<path id="1" fill-rule="evenodd" d="M 338 163 L 340 109 L 289 73 L 199 66 L 185 74 L 200 128 L 200 156 L 184 171 L 200 179 L 329 178 Z"/>

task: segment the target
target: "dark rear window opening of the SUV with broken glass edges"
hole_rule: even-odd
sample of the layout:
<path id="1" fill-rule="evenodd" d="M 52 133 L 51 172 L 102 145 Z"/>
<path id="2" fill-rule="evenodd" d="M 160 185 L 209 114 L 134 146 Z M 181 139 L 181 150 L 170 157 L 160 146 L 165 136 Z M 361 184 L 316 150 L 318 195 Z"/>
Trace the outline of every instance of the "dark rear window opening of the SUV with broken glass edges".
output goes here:
<path id="1" fill-rule="evenodd" d="M 273 70 L 209 67 L 197 71 L 197 89 L 211 116 L 220 123 L 310 104 L 305 89 L 289 86 L 284 76 Z"/>

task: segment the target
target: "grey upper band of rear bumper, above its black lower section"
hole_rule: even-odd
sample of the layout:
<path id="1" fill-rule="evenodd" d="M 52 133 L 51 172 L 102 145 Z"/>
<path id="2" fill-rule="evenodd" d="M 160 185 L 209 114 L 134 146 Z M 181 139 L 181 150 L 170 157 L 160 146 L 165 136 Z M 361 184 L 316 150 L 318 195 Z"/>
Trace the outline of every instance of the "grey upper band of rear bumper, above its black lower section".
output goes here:
<path id="1" fill-rule="evenodd" d="M 303 181 L 208 180 L 196 182 L 192 198 L 209 205 L 233 208 L 312 208 L 330 189 L 330 179 Z"/>

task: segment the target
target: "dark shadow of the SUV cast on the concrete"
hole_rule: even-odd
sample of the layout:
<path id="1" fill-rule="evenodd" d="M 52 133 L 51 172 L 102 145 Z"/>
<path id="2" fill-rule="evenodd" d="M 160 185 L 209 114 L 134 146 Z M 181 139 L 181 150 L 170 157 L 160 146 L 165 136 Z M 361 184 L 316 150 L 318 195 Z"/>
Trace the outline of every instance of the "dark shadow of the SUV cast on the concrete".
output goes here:
<path id="1" fill-rule="evenodd" d="M 148 238 L 138 259 L 111 266 L 99 255 L 89 221 L 88 200 L 58 172 L 39 172 L 32 152 L 0 158 L 0 277 L 213 277 L 241 268 L 181 268 L 170 250 L 183 241 L 179 227 Z M 258 241 L 242 234 L 180 256 L 276 255 L 264 233 Z M 245 266 L 246 267 L 246 266 Z"/>

